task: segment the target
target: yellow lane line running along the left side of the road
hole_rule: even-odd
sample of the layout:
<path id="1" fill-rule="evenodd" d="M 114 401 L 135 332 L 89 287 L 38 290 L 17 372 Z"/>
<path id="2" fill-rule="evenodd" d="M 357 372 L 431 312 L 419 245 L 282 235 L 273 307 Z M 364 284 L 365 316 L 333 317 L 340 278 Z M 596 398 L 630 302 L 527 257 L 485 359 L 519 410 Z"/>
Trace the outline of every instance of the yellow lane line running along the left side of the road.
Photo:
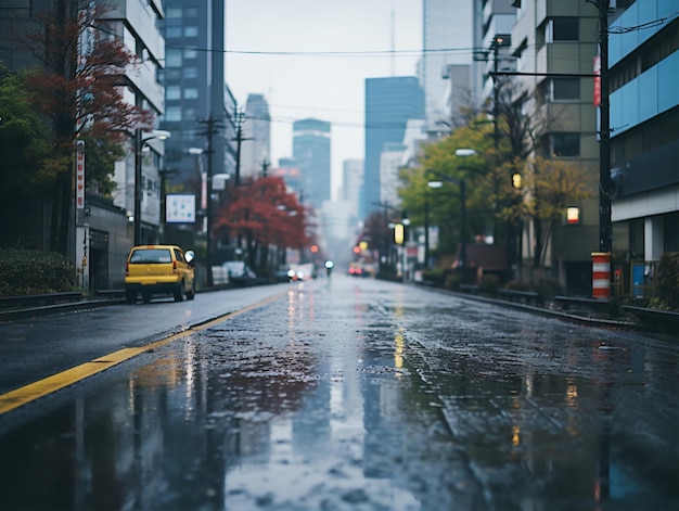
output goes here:
<path id="1" fill-rule="evenodd" d="M 46 379 L 39 380 L 35 383 L 30 383 L 26 386 L 16 388 L 15 391 L 11 391 L 11 392 L 8 392 L 7 394 L 2 394 L 0 395 L 0 414 L 7 413 L 8 411 L 22 407 L 40 397 L 44 397 L 48 394 L 52 394 L 53 392 L 60 391 L 61 388 L 65 388 L 69 385 L 73 385 L 74 383 L 85 380 L 86 378 L 89 378 L 93 374 L 105 371 L 106 369 L 117 366 L 118 363 L 129 360 L 130 358 L 136 357 L 142 353 L 157 349 L 161 346 L 165 346 L 166 344 L 169 344 L 174 341 L 183 338 L 187 335 L 190 335 L 191 333 L 206 330 L 222 321 L 235 318 L 236 316 L 240 316 L 244 312 L 253 310 L 257 307 L 261 307 L 268 304 L 269 302 L 273 302 L 274 299 L 280 298 L 286 293 L 287 292 L 269 296 L 268 298 L 265 298 L 261 302 L 257 302 L 256 304 L 248 305 L 247 307 L 243 307 L 242 309 L 235 310 L 233 312 L 228 312 L 228 314 L 218 316 L 217 318 L 206 321 L 205 323 L 191 327 L 190 329 L 187 329 L 183 332 L 169 335 L 165 338 L 148 344 L 145 346 L 118 349 L 117 352 L 110 353 L 108 355 L 104 355 L 103 357 L 95 358 L 94 360 L 91 360 L 89 362 L 81 363 L 80 366 L 76 366 L 74 368 L 67 369 L 65 371 L 53 374 Z"/>

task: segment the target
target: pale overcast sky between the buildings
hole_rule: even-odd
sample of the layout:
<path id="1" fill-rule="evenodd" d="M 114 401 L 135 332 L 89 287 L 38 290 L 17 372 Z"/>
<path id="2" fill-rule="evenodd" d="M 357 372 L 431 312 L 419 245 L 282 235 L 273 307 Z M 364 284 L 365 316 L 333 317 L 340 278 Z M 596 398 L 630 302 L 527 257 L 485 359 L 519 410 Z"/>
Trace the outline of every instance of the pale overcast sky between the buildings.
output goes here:
<path id="1" fill-rule="evenodd" d="M 294 120 L 332 123 L 335 197 L 342 162 L 363 158 L 364 79 L 417 75 L 421 0 L 226 0 L 226 10 L 227 84 L 242 107 L 251 93 L 267 99 L 271 163 L 292 155 Z"/>

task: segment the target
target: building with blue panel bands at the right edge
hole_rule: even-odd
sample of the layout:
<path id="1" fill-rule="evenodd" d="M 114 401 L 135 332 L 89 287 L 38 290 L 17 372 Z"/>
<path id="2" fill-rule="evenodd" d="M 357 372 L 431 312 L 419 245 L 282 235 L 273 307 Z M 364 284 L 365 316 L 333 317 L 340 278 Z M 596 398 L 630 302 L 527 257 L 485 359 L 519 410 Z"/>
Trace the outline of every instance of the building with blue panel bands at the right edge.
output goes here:
<path id="1" fill-rule="evenodd" d="M 624 3 L 608 42 L 613 253 L 640 264 L 637 295 L 644 261 L 679 252 L 679 10 Z"/>

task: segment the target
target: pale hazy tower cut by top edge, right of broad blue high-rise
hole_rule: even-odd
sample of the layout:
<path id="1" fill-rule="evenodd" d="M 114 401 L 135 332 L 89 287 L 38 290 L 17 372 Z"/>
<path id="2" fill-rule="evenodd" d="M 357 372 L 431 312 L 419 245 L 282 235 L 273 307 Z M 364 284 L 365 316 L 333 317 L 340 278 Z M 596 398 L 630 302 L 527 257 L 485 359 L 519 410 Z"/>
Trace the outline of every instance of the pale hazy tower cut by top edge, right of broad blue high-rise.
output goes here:
<path id="1" fill-rule="evenodd" d="M 473 1 L 422 0 L 422 63 L 427 129 L 449 124 L 445 76 L 451 64 L 472 63 Z M 466 84 L 467 94 L 471 81 Z"/>

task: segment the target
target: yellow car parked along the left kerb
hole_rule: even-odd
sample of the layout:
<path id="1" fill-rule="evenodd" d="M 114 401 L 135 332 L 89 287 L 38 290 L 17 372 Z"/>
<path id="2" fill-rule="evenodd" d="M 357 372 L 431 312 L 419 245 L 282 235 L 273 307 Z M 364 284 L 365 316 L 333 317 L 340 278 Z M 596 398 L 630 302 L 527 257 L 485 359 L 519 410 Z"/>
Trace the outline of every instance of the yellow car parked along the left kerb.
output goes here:
<path id="1" fill-rule="evenodd" d="M 125 268 L 125 298 L 146 304 L 155 294 L 171 294 L 175 302 L 195 297 L 195 254 L 177 245 L 139 245 L 130 251 Z"/>

